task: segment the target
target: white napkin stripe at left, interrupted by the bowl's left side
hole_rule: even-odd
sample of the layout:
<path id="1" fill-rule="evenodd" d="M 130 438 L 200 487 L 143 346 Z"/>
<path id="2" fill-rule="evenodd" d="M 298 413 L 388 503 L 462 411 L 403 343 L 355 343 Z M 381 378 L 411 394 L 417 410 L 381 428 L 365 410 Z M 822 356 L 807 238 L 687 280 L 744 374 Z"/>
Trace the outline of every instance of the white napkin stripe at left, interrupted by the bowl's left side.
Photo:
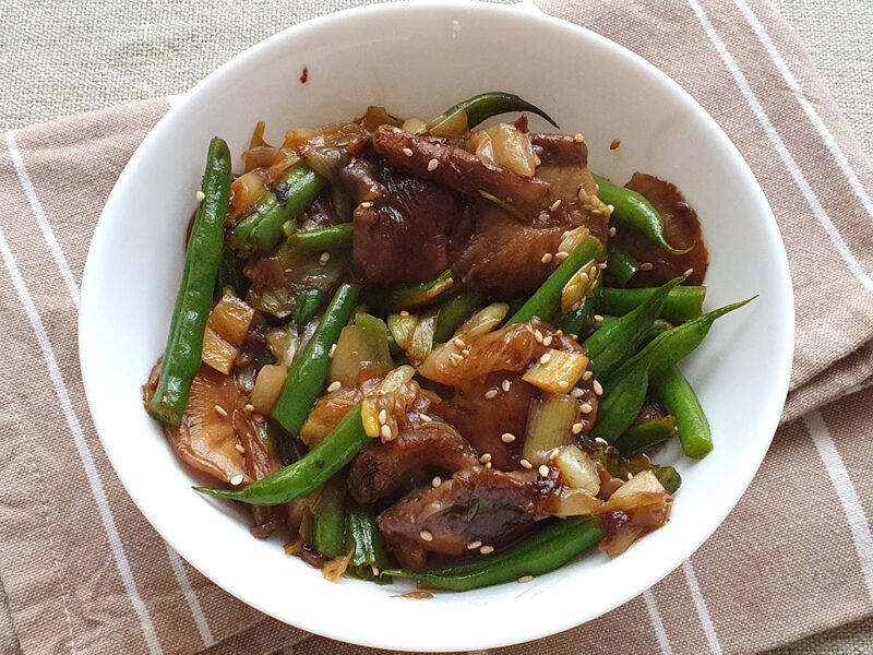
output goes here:
<path id="1" fill-rule="evenodd" d="M 181 97 L 181 96 L 179 96 Z M 36 190 L 34 189 L 33 182 L 31 181 L 31 176 L 27 174 L 27 167 L 24 164 L 24 158 L 21 156 L 21 152 L 17 148 L 15 143 L 15 134 L 12 131 L 7 132 L 7 144 L 9 145 L 9 152 L 12 156 L 12 160 L 15 165 L 15 172 L 19 176 L 19 180 L 21 181 L 22 188 L 24 189 L 25 194 L 27 195 L 27 200 L 31 203 L 31 209 L 33 210 L 34 216 L 36 217 L 37 223 L 39 224 L 39 229 L 43 233 L 43 237 L 46 239 L 46 243 L 51 251 L 51 254 L 55 258 L 55 262 L 58 264 L 58 270 L 61 273 L 61 276 L 64 278 L 67 283 L 67 288 L 70 291 L 70 297 L 73 300 L 73 303 L 79 307 L 79 285 L 73 277 L 72 271 L 70 270 L 70 265 L 67 262 L 67 258 L 63 255 L 63 251 L 58 243 L 57 238 L 55 237 L 55 233 L 51 229 L 51 225 L 49 224 L 48 219 L 46 218 L 46 214 L 43 210 L 41 204 L 39 203 L 39 199 L 36 195 Z M 167 547 L 167 557 L 170 561 L 170 568 L 172 569 L 174 574 L 176 575 L 176 580 L 179 583 L 179 586 L 182 590 L 182 595 L 184 596 L 188 607 L 191 609 L 191 615 L 194 619 L 194 623 L 196 624 L 198 631 L 200 632 L 200 636 L 203 640 L 204 647 L 210 647 L 215 643 L 213 639 L 212 631 L 210 630 L 208 622 L 206 621 L 206 616 L 203 614 L 203 609 L 200 606 L 200 602 L 198 600 L 196 594 L 194 590 L 191 587 L 191 583 L 188 580 L 188 575 L 184 572 L 184 565 L 182 563 L 182 559 L 179 557 L 172 548 L 166 544 Z"/>

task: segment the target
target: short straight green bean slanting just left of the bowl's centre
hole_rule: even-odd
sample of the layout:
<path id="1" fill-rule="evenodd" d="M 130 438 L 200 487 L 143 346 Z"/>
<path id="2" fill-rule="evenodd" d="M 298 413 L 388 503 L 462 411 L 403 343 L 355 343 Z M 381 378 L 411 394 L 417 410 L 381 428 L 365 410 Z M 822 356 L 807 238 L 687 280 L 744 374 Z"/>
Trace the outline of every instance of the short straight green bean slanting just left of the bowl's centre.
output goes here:
<path id="1" fill-rule="evenodd" d="M 358 293 L 358 287 L 351 284 L 344 284 L 336 290 L 312 338 L 288 370 L 279 400 L 273 409 L 273 418 L 295 437 L 300 432 L 310 408 L 324 386 L 331 366 L 331 346 L 339 338 L 339 332 L 351 318 Z"/>

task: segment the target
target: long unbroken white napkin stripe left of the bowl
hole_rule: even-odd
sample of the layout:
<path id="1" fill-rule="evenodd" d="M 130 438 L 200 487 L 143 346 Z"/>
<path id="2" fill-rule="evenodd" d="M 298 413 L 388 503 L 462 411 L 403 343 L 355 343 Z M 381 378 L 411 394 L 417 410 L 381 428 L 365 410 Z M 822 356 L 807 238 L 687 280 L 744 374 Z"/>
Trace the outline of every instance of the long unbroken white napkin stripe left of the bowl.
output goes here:
<path id="1" fill-rule="evenodd" d="M 148 616 L 148 610 L 145 608 L 145 604 L 140 597 L 140 592 L 136 588 L 136 583 L 133 580 L 133 572 L 130 569 L 128 556 L 124 553 L 124 548 L 121 545 L 121 538 L 119 537 L 118 528 L 116 527 L 116 522 L 112 517 L 112 512 L 109 509 L 109 501 L 106 497 L 106 491 L 103 488 L 100 475 L 97 472 L 96 465 L 94 464 L 94 457 L 91 454 L 91 450 L 88 450 L 87 442 L 85 441 L 85 434 L 82 431 L 82 426 L 79 422 L 79 418 L 73 409 L 73 403 L 70 401 L 70 394 L 67 392 L 67 386 L 63 383 L 63 376 L 61 374 L 61 370 L 58 367 L 58 361 L 55 358 L 55 350 L 52 349 L 51 343 L 48 340 L 48 334 L 46 333 L 45 325 L 43 325 L 43 320 L 39 318 L 39 313 L 36 310 L 33 298 L 31 298 L 31 294 L 27 291 L 27 286 L 24 284 L 24 278 L 19 271 L 15 258 L 12 254 L 12 251 L 9 249 L 9 243 L 7 243 L 7 238 L 2 228 L 0 228 L 0 253 L 2 253 L 3 263 L 5 264 L 7 271 L 9 271 L 9 276 L 19 294 L 19 299 L 24 307 L 24 311 L 31 321 L 31 326 L 34 330 L 36 340 L 39 343 L 40 349 L 43 350 L 43 357 L 46 360 L 46 366 L 48 367 L 49 378 L 51 378 L 51 382 L 55 385 L 55 392 L 60 401 L 61 410 L 67 419 L 67 425 L 70 428 L 70 432 L 73 436 L 75 448 L 79 451 L 79 458 L 82 461 L 82 465 L 85 468 L 88 484 L 91 485 L 91 492 L 94 496 L 94 500 L 97 502 L 97 509 L 99 511 L 104 528 L 106 529 L 106 536 L 109 539 L 109 547 L 112 550 L 116 565 L 121 574 L 121 580 L 124 584 L 124 590 L 128 593 L 128 598 L 130 598 L 131 605 L 133 606 L 136 616 L 140 618 L 140 623 L 143 629 L 145 642 L 148 645 L 148 651 L 152 653 L 152 655 L 160 655 L 163 651 L 160 648 L 157 634 L 155 633 L 155 627 L 152 624 L 152 618 Z"/>

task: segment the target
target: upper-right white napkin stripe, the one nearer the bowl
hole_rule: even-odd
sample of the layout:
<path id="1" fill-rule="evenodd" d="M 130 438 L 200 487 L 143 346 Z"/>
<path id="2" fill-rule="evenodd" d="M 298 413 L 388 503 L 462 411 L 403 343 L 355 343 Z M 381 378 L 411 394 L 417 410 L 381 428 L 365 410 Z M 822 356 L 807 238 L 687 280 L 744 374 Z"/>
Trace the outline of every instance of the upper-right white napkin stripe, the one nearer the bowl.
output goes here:
<path id="1" fill-rule="evenodd" d="M 779 157 L 782 159 L 788 172 L 794 180 L 794 183 L 800 189 L 800 192 L 803 194 L 806 203 L 815 214 L 818 223 L 822 224 L 822 227 L 825 228 L 830 242 L 834 243 L 834 248 L 837 249 L 842 261 L 849 266 L 849 270 L 854 274 L 858 281 L 868 289 L 873 291 L 873 279 L 864 272 L 861 267 L 861 264 L 854 258 L 849 247 L 846 245 L 846 241 L 842 239 L 842 235 L 839 234 L 834 223 L 830 221 L 830 217 L 825 212 L 825 209 L 822 206 L 822 203 L 818 201 L 818 198 L 815 195 L 815 192 L 810 187 L 810 183 L 806 181 L 806 178 L 803 177 L 803 172 L 801 172 L 800 167 L 798 166 L 794 158 L 791 156 L 791 153 L 788 152 L 788 148 L 785 145 L 781 136 L 779 136 L 776 128 L 773 127 L 770 119 L 767 117 L 767 114 L 764 111 L 764 108 L 761 106 L 757 97 L 755 96 L 752 87 L 749 85 L 749 80 L 746 80 L 743 72 L 740 70 L 740 67 L 737 64 L 737 61 L 733 59 L 733 56 L 728 51 L 725 43 L 721 40 L 721 37 L 718 36 L 713 24 L 709 22 L 709 19 L 704 13 L 703 8 L 701 8 L 697 0 L 687 0 L 689 5 L 694 11 L 694 14 L 697 16 L 697 20 L 701 22 L 706 35 L 709 37 L 709 40 L 713 41 L 716 50 L 718 51 L 719 56 L 721 57 L 721 61 L 725 62 L 725 66 L 728 68 L 728 71 L 733 76 L 734 82 L 737 82 L 737 86 L 739 86 L 740 92 L 743 94 L 745 102 L 749 104 L 749 107 L 752 109 L 752 112 L 757 118 L 761 127 L 764 129 L 764 132 L 767 134 L 767 138 L 770 140 L 774 148 L 776 150 Z"/>

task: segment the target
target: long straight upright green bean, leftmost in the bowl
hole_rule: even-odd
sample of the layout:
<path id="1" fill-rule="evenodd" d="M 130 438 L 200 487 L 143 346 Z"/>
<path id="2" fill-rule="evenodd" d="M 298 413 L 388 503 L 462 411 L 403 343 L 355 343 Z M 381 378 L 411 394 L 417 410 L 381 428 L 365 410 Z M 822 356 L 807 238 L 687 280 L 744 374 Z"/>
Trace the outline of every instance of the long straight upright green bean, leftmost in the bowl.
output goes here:
<path id="1" fill-rule="evenodd" d="M 210 143 L 201 186 L 205 198 L 191 228 L 160 379 L 147 407 L 154 418 L 168 426 L 178 426 L 188 407 L 222 260 L 225 214 L 230 202 L 230 151 L 217 136 Z"/>

